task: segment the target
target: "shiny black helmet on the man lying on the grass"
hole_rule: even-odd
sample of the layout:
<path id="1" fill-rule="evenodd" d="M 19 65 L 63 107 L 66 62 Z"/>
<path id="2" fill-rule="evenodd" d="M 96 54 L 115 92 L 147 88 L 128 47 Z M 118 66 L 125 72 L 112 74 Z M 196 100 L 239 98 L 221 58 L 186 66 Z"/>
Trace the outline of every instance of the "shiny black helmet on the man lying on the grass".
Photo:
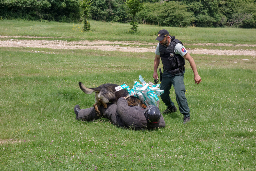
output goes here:
<path id="1" fill-rule="evenodd" d="M 154 105 L 149 105 L 145 109 L 144 115 L 149 123 L 158 123 L 161 117 L 159 108 Z"/>

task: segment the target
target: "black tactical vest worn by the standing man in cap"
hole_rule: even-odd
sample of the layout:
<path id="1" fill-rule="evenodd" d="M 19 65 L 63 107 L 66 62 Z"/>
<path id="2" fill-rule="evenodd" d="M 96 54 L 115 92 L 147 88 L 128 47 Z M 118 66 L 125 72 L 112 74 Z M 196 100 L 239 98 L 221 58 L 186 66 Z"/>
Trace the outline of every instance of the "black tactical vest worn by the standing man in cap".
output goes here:
<path id="1" fill-rule="evenodd" d="M 185 70 L 185 59 L 181 55 L 174 53 L 174 47 L 177 43 L 182 44 L 178 39 L 175 39 L 175 36 L 171 38 L 171 43 L 168 47 L 165 47 L 159 43 L 160 57 L 164 69 L 167 71 L 171 71 L 177 68 L 183 68 Z"/>

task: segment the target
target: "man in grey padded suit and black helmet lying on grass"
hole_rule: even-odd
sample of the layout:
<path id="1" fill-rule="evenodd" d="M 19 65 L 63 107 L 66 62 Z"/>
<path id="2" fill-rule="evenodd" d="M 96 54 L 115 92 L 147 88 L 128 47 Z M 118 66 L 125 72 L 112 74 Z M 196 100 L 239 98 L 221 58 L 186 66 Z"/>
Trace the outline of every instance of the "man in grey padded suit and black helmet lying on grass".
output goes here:
<path id="1" fill-rule="evenodd" d="M 106 109 L 99 105 L 100 117 L 97 115 L 94 107 L 80 109 L 80 106 L 76 105 L 74 109 L 76 120 L 91 121 L 104 117 L 111 120 L 116 126 L 123 128 L 131 127 L 135 130 L 165 127 L 164 118 L 156 106 L 150 105 L 146 109 L 140 106 L 128 106 L 125 97 L 119 98 L 117 105 L 110 103 L 107 105 Z"/>

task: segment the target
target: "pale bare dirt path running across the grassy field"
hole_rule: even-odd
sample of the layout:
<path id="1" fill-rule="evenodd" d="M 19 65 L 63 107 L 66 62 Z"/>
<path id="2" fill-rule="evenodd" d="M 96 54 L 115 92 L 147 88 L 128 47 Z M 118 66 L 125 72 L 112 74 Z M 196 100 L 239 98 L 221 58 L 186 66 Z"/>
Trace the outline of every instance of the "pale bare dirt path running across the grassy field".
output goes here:
<path id="1" fill-rule="evenodd" d="M 30 48 L 50 48 L 50 49 L 94 49 L 102 51 L 124 51 L 124 52 L 155 52 L 156 44 L 153 43 L 136 43 L 136 42 L 118 42 L 118 41 L 60 41 L 60 40 L 13 40 L 12 38 L 21 36 L 0 36 L 0 47 L 30 47 Z M 22 36 L 26 38 L 39 38 Z M 1 38 L 10 38 L 1 40 Z M 141 47 L 123 47 L 122 45 L 151 45 L 148 48 Z M 216 46 L 256 46 L 247 44 L 227 44 L 227 43 L 198 43 L 195 45 L 216 45 Z M 249 55 L 256 56 L 254 50 L 209 50 L 209 49 L 187 49 L 192 54 L 209 54 L 209 55 Z"/>

